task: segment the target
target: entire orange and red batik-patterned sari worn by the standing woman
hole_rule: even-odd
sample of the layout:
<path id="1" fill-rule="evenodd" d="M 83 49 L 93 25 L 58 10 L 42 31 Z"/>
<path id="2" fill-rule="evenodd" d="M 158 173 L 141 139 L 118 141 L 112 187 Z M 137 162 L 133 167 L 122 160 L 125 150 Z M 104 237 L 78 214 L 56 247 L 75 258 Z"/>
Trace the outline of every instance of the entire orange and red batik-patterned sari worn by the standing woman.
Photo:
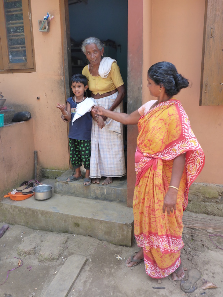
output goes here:
<path id="1" fill-rule="evenodd" d="M 146 273 L 153 278 L 170 275 L 179 267 L 183 211 L 191 183 L 204 165 L 204 154 L 181 103 L 175 98 L 159 103 L 142 115 L 135 154 L 136 186 L 133 198 L 134 232 L 144 249 Z M 186 153 L 177 194 L 176 211 L 163 214 L 173 160 Z"/>

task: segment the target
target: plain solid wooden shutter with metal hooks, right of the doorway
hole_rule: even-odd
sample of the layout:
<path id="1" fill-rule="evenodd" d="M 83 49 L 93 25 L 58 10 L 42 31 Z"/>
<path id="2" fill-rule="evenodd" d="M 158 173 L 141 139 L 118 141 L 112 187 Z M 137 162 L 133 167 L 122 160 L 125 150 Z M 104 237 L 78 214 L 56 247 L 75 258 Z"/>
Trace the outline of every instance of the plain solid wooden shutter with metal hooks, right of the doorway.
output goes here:
<path id="1" fill-rule="evenodd" d="M 200 105 L 223 105 L 223 1 L 206 0 Z"/>

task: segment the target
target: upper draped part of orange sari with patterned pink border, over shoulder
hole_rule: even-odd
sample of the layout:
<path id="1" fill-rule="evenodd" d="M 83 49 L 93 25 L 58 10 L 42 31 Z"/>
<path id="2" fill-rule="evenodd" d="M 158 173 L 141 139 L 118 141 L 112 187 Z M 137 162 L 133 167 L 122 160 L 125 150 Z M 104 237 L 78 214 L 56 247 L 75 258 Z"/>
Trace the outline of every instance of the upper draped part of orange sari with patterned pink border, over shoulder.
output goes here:
<path id="1" fill-rule="evenodd" d="M 159 103 L 141 116 L 138 130 L 135 154 L 136 185 L 151 165 L 156 170 L 158 159 L 173 160 L 180 154 L 186 153 L 187 180 L 183 203 L 185 210 L 189 187 L 204 166 L 204 153 L 180 101 L 172 98 Z"/>

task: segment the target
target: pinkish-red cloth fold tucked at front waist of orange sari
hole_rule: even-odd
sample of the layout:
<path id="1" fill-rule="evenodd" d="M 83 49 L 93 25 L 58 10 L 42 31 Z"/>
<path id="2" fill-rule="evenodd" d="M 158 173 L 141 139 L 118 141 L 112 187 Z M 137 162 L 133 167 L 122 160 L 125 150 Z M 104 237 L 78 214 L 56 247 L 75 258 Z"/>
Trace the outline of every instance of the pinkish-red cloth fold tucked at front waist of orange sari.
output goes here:
<path id="1" fill-rule="evenodd" d="M 137 147 L 135 153 L 135 171 L 136 171 L 136 183 L 135 186 L 139 184 L 141 177 L 147 172 L 147 170 L 152 166 L 153 170 L 157 169 L 157 162 L 159 158 L 150 157 L 147 154 L 143 154 L 141 150 Z"/>

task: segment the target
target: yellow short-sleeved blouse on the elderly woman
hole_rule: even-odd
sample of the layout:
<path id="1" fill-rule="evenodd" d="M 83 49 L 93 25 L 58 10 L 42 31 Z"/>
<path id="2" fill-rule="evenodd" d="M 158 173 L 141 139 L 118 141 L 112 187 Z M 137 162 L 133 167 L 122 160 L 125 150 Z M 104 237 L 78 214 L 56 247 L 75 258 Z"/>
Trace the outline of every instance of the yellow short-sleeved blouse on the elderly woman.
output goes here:
<path id="1" fill-rule="evenodd" d="M 119 66 L 116 63 L 112 63 L 112 68 L 107 78 L 102 78 L 100 75 L 91 76 L 88 66 L 84 67 L 82 74 L 88 79 L 88 88 L 93 94 L 97 95 L 99 93 L 101 95 L 124 85 Z"/>

